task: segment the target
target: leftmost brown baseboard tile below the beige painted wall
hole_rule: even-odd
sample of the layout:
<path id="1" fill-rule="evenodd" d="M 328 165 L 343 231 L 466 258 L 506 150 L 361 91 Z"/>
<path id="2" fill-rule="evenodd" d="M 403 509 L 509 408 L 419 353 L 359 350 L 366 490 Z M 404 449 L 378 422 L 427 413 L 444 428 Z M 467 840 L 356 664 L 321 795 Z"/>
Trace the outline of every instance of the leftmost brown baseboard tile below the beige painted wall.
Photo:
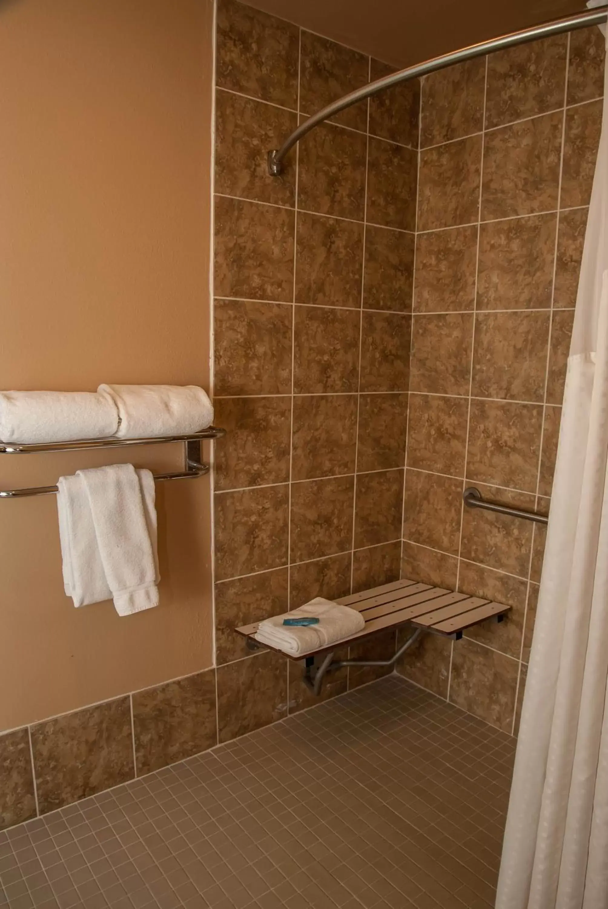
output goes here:
<path id="1" fill-rule="evenodd" d="M 34 779 L 27 729 L 0 734 L 0 830 L 35 817 Z"/>

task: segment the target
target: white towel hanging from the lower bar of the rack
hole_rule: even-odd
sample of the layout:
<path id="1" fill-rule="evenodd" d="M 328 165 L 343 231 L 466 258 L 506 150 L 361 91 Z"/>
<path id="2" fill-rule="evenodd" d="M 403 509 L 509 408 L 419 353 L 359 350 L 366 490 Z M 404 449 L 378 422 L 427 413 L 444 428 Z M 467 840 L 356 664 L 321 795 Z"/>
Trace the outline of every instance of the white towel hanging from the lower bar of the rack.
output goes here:
<path id="1" fill-rule="evenodd" d="M 128 615 L 158 604 L 154 477 L 132 464 L 59 479 L 57 509 L 65 594 L 75 606 L 114 595 Z"/>

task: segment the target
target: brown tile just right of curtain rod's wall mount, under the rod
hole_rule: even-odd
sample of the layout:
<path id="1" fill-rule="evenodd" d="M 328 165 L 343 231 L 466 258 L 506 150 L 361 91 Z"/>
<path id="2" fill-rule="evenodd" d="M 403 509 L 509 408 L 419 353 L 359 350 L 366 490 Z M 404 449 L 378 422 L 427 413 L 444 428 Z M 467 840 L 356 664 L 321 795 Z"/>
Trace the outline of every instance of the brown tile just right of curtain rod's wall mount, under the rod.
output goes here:
<path id="1" fill-rule="evenodd" d="M 367 138 L 342 126 L 315 126 L 299 146 L 298 208 L 363 221 Z"/>

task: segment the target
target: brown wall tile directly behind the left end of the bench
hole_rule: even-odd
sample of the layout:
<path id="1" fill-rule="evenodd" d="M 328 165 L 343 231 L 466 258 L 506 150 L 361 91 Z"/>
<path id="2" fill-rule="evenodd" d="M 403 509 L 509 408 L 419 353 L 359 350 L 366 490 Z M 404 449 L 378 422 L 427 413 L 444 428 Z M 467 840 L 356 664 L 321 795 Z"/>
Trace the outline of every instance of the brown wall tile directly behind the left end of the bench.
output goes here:
<path id="1" fill-rule="evenodd" d="M 288 594 L 287 568 L 215 584 L 215 663 L 232 663 L 249 656 L 244 637 L 234 628 L 286 613 Z"/>

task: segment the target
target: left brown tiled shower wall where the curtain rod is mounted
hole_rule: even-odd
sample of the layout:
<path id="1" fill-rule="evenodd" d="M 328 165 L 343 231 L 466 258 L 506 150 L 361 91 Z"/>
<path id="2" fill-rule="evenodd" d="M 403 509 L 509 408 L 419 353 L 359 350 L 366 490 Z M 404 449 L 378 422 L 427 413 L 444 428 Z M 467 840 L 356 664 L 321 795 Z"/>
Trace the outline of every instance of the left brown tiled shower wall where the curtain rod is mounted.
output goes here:
<path id="1" fill-rule="evenodd" d="M 220 737 L 314 703 L 234 627 L 399 577 L 419 85 L 306 115 L 389 67 L 249 6 L 217 24 L 214 404 Z M 395 635 L 366 644 L 394 654 Z M 356 655 L 356 654 L 355 654 Z M 325 696 L 369 681 L 332 676 Z"/>

